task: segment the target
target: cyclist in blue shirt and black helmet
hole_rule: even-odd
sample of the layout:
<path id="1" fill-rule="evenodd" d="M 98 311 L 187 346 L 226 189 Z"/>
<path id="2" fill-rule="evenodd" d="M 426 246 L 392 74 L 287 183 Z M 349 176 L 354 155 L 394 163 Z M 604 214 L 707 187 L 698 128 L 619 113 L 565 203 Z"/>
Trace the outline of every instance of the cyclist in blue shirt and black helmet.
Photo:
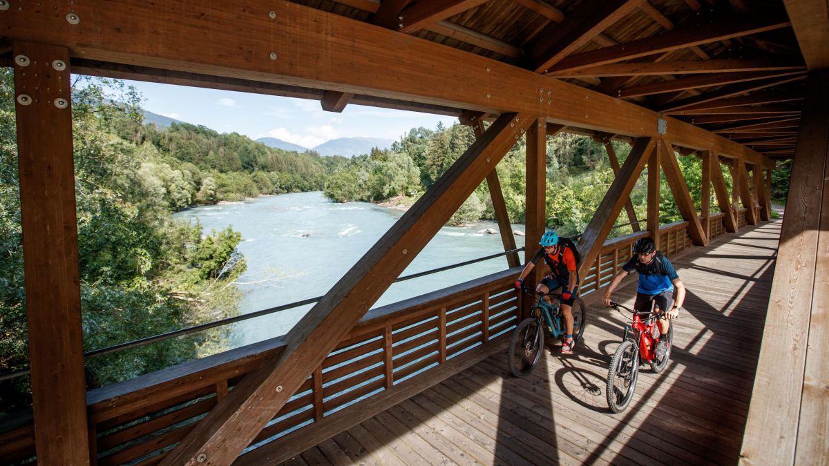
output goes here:
<path id="1" fill-rule="evenodd" d="M 667 311 L 657 322 L 660 335 L 667 335 L 670 328 L 668 320 L 679 317 L 682 303 L 685 302 L 685 286 L 676 274 L 671 261 L 657 251 L 652 238 L 637 240 L 633 245 L 633 252 L 635 255 L 610 281 L 607 291 L 604 292 L 604 305 L 610 305 L 610 296 L 619 282 L 636 270 L 639 274 L 639 286 L 636 290 L 636 303 L 633 304 L 633 308 L 647 313 L 651 311 L 651 303 L 655 302 L 656 312 Z M 673 300 L 674 289 L 676 289 L 676 303 Z M 660 342 L 657 343 L 657 357 L 664 356 L 666 350 L 667 340 L 660 337 Z"/>

